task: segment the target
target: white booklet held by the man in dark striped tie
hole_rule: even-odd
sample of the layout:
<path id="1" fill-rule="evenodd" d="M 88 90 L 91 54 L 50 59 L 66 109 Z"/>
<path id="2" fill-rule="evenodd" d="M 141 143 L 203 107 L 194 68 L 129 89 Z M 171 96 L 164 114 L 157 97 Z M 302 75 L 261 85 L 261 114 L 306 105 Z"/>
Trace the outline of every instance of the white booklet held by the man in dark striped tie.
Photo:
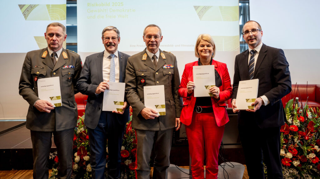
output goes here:
<path id="1" fill-rule="evenodd" d="M 236 97 L 236 109 L 254 109 L 251 104 L 258 96 L 259 79 L 240 81 Z"/>

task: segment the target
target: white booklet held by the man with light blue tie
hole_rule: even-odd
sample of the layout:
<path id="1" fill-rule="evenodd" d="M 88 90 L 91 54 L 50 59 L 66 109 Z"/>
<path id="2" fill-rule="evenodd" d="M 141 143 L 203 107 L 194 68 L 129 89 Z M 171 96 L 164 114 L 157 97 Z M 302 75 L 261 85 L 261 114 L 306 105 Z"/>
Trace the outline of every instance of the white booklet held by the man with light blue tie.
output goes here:
<path id="1" fill-rule="evenodd" d="M 104 90 L 102 111 L 123 112 L 125 83 L 108 82 L 109 89 Z"/>

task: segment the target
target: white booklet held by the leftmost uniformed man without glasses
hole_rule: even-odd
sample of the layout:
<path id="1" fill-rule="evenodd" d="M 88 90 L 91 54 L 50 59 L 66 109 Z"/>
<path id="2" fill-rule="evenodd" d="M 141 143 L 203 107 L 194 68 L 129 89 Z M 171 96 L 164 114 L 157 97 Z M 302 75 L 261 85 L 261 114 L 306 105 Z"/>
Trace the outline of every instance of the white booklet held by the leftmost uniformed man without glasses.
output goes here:
<path id="1" fill-rule="evenodd" d="M 53 107 L 62 106 L 60 77 L 38 79 L 38 97 L 53 104 Z"/>

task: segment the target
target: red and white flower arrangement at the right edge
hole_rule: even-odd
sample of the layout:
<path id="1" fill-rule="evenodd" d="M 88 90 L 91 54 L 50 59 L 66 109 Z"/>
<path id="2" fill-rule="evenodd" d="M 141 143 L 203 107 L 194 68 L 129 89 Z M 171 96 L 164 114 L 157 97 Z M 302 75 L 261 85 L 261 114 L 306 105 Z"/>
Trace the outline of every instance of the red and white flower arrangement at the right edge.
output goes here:
<path id="1" fill-rule="evenodd" d="M 281 126 L 280 156 L 284 178 L 320 178 L 320 111 L 298 107 L 293 99 L 285 106 L 287 122 Z"/>

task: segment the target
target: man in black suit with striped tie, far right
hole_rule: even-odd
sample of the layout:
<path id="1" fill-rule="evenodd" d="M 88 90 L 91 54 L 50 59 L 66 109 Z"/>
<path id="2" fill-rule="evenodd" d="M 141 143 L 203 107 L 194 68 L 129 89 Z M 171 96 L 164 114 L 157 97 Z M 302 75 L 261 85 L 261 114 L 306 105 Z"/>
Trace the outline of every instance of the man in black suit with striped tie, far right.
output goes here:
<path id="1" fill-rule="evenodd" d="M 262 156 L 268 179 L 283 178 L 280 161 L 280 126 L 285 113 L 281 98 L 291 91 L 289 64 L 282 49 L 262 43 L 259 23 L 248 21 L 243 38 L 249 50 L 236 56 L 232 109 L 238 111 L 238 129 L 250 178 L 264 178 Z M 236 109 L 239 81 L 259 79 L 258 98 L 253 110 Z"/>

